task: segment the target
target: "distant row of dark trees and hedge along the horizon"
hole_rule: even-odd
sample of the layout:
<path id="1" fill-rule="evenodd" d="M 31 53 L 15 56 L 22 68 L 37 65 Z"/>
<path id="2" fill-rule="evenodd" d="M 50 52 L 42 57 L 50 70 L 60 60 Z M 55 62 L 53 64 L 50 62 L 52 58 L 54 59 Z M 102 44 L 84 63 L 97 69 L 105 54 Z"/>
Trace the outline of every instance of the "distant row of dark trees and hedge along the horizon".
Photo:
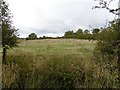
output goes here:
<path id="1" fill-rule="evenodd" d="M 73 38 L 73 39 L 89 39 L 89 40 L 95 40 L 97 34 L 100 32 L 99 28 L 95 28 L 92 30 L 92 33 L 90 30 L 82 30 L 78 29 L 76 32 L 73 30 L 68 30 L 64 33 L 64 36 L 62 37 L 48 37 L 48 36 L 43 36 L 43 37 L 38 37 L 36 33 L 31 33 L 26 37 L 26 40 L 35 40 L 35 39 L 59 39 L 59 38 Z"/>

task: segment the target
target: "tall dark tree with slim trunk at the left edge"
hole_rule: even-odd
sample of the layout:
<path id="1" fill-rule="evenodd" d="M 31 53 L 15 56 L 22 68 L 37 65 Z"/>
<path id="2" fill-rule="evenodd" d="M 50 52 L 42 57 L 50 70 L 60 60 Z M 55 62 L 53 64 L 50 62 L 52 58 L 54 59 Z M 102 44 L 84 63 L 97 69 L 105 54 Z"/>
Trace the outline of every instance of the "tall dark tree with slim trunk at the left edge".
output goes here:
<path id="1" fill-rule="evenodd" d="M 6 51 L 8 48 L 17 46 L 18 29 L 12 26 L 12 16 L 8 8 L 8 4 L 3 1 L 1 5 L 1 27 L 2 27 L 2 47 L 3 47 L 3 63 L 6 64 Z"/>

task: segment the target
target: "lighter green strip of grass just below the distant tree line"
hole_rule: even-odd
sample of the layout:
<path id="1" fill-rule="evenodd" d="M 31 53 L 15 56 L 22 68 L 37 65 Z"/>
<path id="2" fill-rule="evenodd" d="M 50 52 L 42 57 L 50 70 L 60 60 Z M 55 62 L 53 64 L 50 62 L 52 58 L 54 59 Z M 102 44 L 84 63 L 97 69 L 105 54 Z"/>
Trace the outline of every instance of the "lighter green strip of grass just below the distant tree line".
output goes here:
<path id="1" fill-rule="evenodd" d="M 35 40 L 35 41 L 22 41 L 20 49 L 32 50 L 37 54 L 81 54 L 91 53 L 94 49 L 95 43 L 87 40 Z"/>

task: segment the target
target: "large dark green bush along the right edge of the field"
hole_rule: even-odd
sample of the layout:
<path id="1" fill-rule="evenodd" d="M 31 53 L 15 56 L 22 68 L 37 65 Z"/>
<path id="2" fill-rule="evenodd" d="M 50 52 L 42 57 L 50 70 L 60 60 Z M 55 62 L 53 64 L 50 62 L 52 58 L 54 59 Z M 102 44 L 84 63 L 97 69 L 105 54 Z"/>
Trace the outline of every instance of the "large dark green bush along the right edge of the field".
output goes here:
<path id="1" fill-rule="evenodd" d="M 117 85 L 120 84 L 120 25 L 119 21 L 113 21 L 110 26 L 104 28 L 97 37 L 97 46 L 95 47 L 94 57 L 97 63 L 105 65 L 109 70 L 109 74 L 114 74 L 117 70 L 117 75 L 114 77 Z"/>

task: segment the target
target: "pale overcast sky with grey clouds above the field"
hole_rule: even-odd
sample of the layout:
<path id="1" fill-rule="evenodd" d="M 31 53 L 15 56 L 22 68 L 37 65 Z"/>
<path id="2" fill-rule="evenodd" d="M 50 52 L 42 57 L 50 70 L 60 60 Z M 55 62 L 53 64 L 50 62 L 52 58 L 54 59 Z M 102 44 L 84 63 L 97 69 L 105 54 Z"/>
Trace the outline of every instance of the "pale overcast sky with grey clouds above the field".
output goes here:
<path id="1" fill-rule="evenodd" d="M 109 1 L 109 0 L 107 0 Z M 118 0 L 110 4 L 116 8 Z M 63 36 L 68 30 L 91 30 L 106 25 L 116 16 L 106 9 L 92 9 L 94 0 L 7 0 L 13 14 L 13 25 L 20 37 L 30 33 L 40 36 Z"/>

